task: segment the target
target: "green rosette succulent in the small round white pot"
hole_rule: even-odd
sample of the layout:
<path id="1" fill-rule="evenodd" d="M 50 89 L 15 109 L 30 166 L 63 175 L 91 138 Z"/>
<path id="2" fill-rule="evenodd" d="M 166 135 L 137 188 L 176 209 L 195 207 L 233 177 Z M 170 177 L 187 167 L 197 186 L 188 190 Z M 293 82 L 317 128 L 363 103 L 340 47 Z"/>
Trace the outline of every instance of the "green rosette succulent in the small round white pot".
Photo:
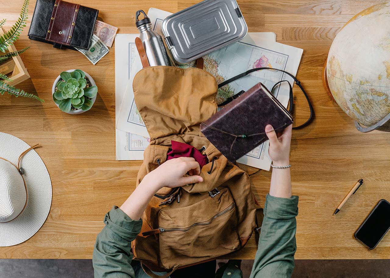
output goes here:
<path id="1" fill-rule="evenodd" d="M 92 98 L 97 94 L 97 86 L 89 86 L 82 70 L 60 73 L 53 100 L 64 112 L 82 109 L 87 111 L 92 107 Z M 72 109 L 73 108 L 73 109 Z"/>

